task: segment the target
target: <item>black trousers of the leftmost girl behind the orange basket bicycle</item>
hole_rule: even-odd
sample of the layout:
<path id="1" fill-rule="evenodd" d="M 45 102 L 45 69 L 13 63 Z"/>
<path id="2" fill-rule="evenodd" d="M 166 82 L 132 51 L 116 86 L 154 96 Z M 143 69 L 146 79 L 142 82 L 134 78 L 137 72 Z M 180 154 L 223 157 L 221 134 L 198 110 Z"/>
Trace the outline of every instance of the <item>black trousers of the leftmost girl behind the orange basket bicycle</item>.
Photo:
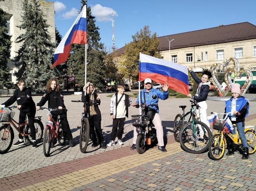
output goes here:
<path id="1" fill-rule="evenodd" d="M 35 129 L 35 125 L 34 125 L 36 110 L 31 111 L 31 112 L 21 112 L 20 111 L 20 116 L 19 116 L 19 123 L 20 124 L 25 122 L 26 114 L 27 114 L 27 118 L 28 118 L 28 124 L 29 124 L 29 127 L 30 127 L 32 140 L 36 140 L 36 129 Z M 20 128 L 21 132 L 23 132 L 23 128 L 24 128 L 24 126 L 22 126 Z M 21 134 L 19 134 L 19 138 L 23 139 L 23 136 Z"/>

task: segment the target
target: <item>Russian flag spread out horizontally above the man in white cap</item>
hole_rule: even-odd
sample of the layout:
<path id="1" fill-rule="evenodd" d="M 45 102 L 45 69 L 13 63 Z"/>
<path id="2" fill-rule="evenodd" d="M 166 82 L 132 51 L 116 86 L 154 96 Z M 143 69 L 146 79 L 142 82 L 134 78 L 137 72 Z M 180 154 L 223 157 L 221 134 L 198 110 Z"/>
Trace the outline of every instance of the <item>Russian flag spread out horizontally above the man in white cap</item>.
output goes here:
<path id="1" fill-rule="evenodd" d="M 184 95 L 189 94 L 188 70 L 185 66 L 140 53 L 139 81 L 146 78 L 164 84 Z"/>

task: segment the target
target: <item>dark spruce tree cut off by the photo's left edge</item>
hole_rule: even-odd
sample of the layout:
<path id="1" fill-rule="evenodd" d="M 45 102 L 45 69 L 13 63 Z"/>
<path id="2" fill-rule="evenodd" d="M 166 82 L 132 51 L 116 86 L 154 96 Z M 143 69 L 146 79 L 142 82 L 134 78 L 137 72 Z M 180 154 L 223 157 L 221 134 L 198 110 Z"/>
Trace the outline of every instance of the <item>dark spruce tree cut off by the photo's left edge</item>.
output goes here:
<path id="1" fill-rule="evenodd" d="M 7 64 L 10 61 L 11 36 L 8 35 L 7 20 L 7 13 L 0 8 L 0 87 L 10 88 L 12 82 Z"/>

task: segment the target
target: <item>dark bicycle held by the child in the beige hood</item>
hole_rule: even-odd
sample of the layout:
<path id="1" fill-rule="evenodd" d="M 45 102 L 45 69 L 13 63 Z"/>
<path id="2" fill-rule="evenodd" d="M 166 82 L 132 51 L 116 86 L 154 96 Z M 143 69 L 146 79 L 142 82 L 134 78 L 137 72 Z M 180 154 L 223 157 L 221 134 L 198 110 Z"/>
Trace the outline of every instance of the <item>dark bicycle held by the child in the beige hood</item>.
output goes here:
<path id="1" fill-rule="evenodd" d="M 81 116 L 81 126 L 80 126 L 80 136 L 79 136 L 79 147 L 82 153 L 86 152 L 89 142 L 90 135 L 90 124 L 89 124 L 89 102 L 81 101 L 81 100 L 71 100 L 71 102 L 82 102 L 84 103 L 84 112 L 82 112 Z M 79 127 L 78 127 L 79 128 Z"/>

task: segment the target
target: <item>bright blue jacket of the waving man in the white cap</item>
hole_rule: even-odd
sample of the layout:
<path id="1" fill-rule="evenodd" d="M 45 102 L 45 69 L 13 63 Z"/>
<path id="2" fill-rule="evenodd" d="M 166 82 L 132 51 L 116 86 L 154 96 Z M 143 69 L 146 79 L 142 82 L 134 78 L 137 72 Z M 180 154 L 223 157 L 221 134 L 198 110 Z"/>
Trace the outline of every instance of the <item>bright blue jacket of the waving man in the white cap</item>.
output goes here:
<path id="1" fill-rule="evenodd" d="M 152 98 L 152 95 L 156 95 L 156 99 Z M 144 95 L 145 95 L 145 100 L 144 100 Z M 164 91 L 161 92 L 160 90 L 151 88 L 151 90 L 149 92 L 146 91 L 146 88 L 144 88 L 141 92 L 140 92 L 140 103 L 145 104 L 146 105 L 150 105 L 150 104 L 158 104 L 158 99 L 162 99 L 165 100 L 167 99 L 169 96 L 168 91 Z M 137 101 L 136 103 L 139 105 L 139 96 L 137 97 Z M 150 108 L 155 109 L 157 113 L 159 113 L 159 107 L 156 106 L 150 106 Z"/>

